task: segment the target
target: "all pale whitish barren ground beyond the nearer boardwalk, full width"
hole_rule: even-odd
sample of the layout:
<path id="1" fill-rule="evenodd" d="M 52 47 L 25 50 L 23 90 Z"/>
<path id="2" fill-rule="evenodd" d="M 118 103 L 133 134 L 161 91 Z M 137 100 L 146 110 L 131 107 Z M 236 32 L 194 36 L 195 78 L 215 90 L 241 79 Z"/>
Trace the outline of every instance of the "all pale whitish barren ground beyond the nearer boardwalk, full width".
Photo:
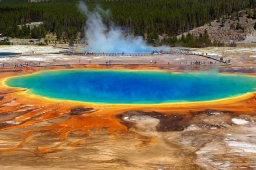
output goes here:
<path id="1" fill-rule="evenodd" d="M 208 56 L 225 60 L 230 59 L 232 66 L 255 66 L 256 65 L 256 48 L 232 48 L 232 47 L 211 47 L 211 48 L 180 48 L 194 53 L 204 53 Z M 22 52 L 30 54 L 31 51 L 36 53 L 44 52 L 59 52 L 61 48 L 53 48 L 52 46 L 1 46 L 1 52 Z M 179 48 L 172 48 L 171 50 L 178 50 Z M 14 67 L 15 63 L 30 63 L 31 66 L 39 65 L 63 65 L 63 64 L 88 64 L 91 60 L 92 64 L 105 64 L 106 61 L 111 60 L 112 64 L 149 64 L 150 61 L 157 62 L 157 64 L 167 65 L 190 65 L 190 62 L 205 61 L 206 65 L 209 61 L 215 61 L 199 57 L 195 55 L 184 54 L 163 54 L 155 56 L 68 56 L 62 54 L 44 54 L 44 55 L 29 55 L 21 57 L 0 58 L 0 63 L 4 63 L 6 67 Z M 185 62 L 185 63 L 183 63 Z M 187 63 L 186 63 L 187 62 Z M 220 65 L 216 63 L 216 65 Z"/>

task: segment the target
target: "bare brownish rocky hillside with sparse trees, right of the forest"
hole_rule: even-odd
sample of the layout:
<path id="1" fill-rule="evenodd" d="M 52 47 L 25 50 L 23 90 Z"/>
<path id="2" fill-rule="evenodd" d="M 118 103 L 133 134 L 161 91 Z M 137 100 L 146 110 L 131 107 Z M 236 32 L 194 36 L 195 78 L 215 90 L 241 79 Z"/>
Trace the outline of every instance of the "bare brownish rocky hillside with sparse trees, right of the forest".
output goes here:
<path id="1" fill-rule="evenodd" d="M 253 10 L 251 10 L 251 13 L 253 13 Z M 204 26 L 190 30 L 184 33 L 184 35 L 193 33 L 195 36 L 199 36 L 200 33 L 203 34 L 204 30 L 207 29 L 212 41 L 214 39 L 218 41 L 228 41 L 232 39 L 235 41 L 256 42 L 255 22 L 256 19 L 254 17 L 248 17 L 247 11 L 240 11 L 238 15 L 225 16 L 220 18 L 219 21 L 215 20 Z M 177 37 L 180 38 L 181 36 L 182 34 Z"/>

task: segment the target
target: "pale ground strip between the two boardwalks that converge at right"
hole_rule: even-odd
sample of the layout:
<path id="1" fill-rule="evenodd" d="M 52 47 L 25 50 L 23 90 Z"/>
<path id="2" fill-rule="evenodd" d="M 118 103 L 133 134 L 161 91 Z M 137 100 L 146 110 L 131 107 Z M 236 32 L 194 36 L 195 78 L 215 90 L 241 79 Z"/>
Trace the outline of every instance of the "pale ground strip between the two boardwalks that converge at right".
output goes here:
<path id="1" fill-rule="evenodd" d="M 46 56 L 47 55 L 47 56 Z M 28 52 L 13 56 L 6 56 L 0 63 L 0 67 L 13 68 L 14 65 L 28 63 L 26 66 L 50 66 L 70 64 L 149 64 L 158 65 L 230 65 L 217 58 L 189 53 L 189 52 L 159 52 L 159 53 L 84 53 L 70 52 Z M 204 60 L 203 58 L 206 58 Z M 212 61 L 211 61 L 212 60 Z M 215 62 L 213 62 L 215 61 Z M 218 62 L 218 63 L 217 63 Z"/>

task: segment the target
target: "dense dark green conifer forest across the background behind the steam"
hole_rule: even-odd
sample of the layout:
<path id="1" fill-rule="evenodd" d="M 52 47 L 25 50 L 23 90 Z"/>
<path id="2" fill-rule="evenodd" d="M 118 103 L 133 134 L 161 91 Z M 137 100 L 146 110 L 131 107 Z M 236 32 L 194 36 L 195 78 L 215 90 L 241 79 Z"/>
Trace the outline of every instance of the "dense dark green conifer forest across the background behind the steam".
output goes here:
<path id="1" fill-rule="evenodd" d="M 127 32 L 142 35 L 153 42 L 157 35 L 178 35 L 195 27 L 241 9 L 254 7 L 256 0 L 85 0 L 90 9 L 99 4 L 110 9 L 111 20 Z M 77 9 L 78 0 L 53 0 L 28 3 L 27 0 L 2 0 L 0 2 L 0 33 L 11 37 L 29 37 L 18 31 L 17 25 L 43 21 L 44 31 L 57 34 L 58 38 L 83 37 L 86 17 Z M 25 28 L 24 28 L 25 30 Z M 22 32 L 22 33 L 20 33 Z M 24 33 L 25 32 L 25 33 Z"/>

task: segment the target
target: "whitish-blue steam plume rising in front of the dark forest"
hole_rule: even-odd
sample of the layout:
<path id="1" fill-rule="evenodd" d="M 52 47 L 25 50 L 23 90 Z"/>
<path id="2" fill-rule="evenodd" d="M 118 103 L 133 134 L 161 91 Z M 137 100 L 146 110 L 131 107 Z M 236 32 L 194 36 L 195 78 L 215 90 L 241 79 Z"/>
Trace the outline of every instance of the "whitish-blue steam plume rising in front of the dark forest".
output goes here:
<path id="1" fill-rule="evenodd" d="M 93 11 L 89 11 L 84 2 L 79 2 L 79 9 L 87 16 L 85 26 L 85 38 L 88 43 L 89 50 L 94 52 L 151 52 L 153 47 L 147 45 L 146 41 L 140 36 L 128 35 L 124 37 L 124 31 L 111 24 L 107 29 L 103 24 L 104 16 L 109 15 L 109 10 L 104 11 L 100 7 L 96 7 Z"/>

